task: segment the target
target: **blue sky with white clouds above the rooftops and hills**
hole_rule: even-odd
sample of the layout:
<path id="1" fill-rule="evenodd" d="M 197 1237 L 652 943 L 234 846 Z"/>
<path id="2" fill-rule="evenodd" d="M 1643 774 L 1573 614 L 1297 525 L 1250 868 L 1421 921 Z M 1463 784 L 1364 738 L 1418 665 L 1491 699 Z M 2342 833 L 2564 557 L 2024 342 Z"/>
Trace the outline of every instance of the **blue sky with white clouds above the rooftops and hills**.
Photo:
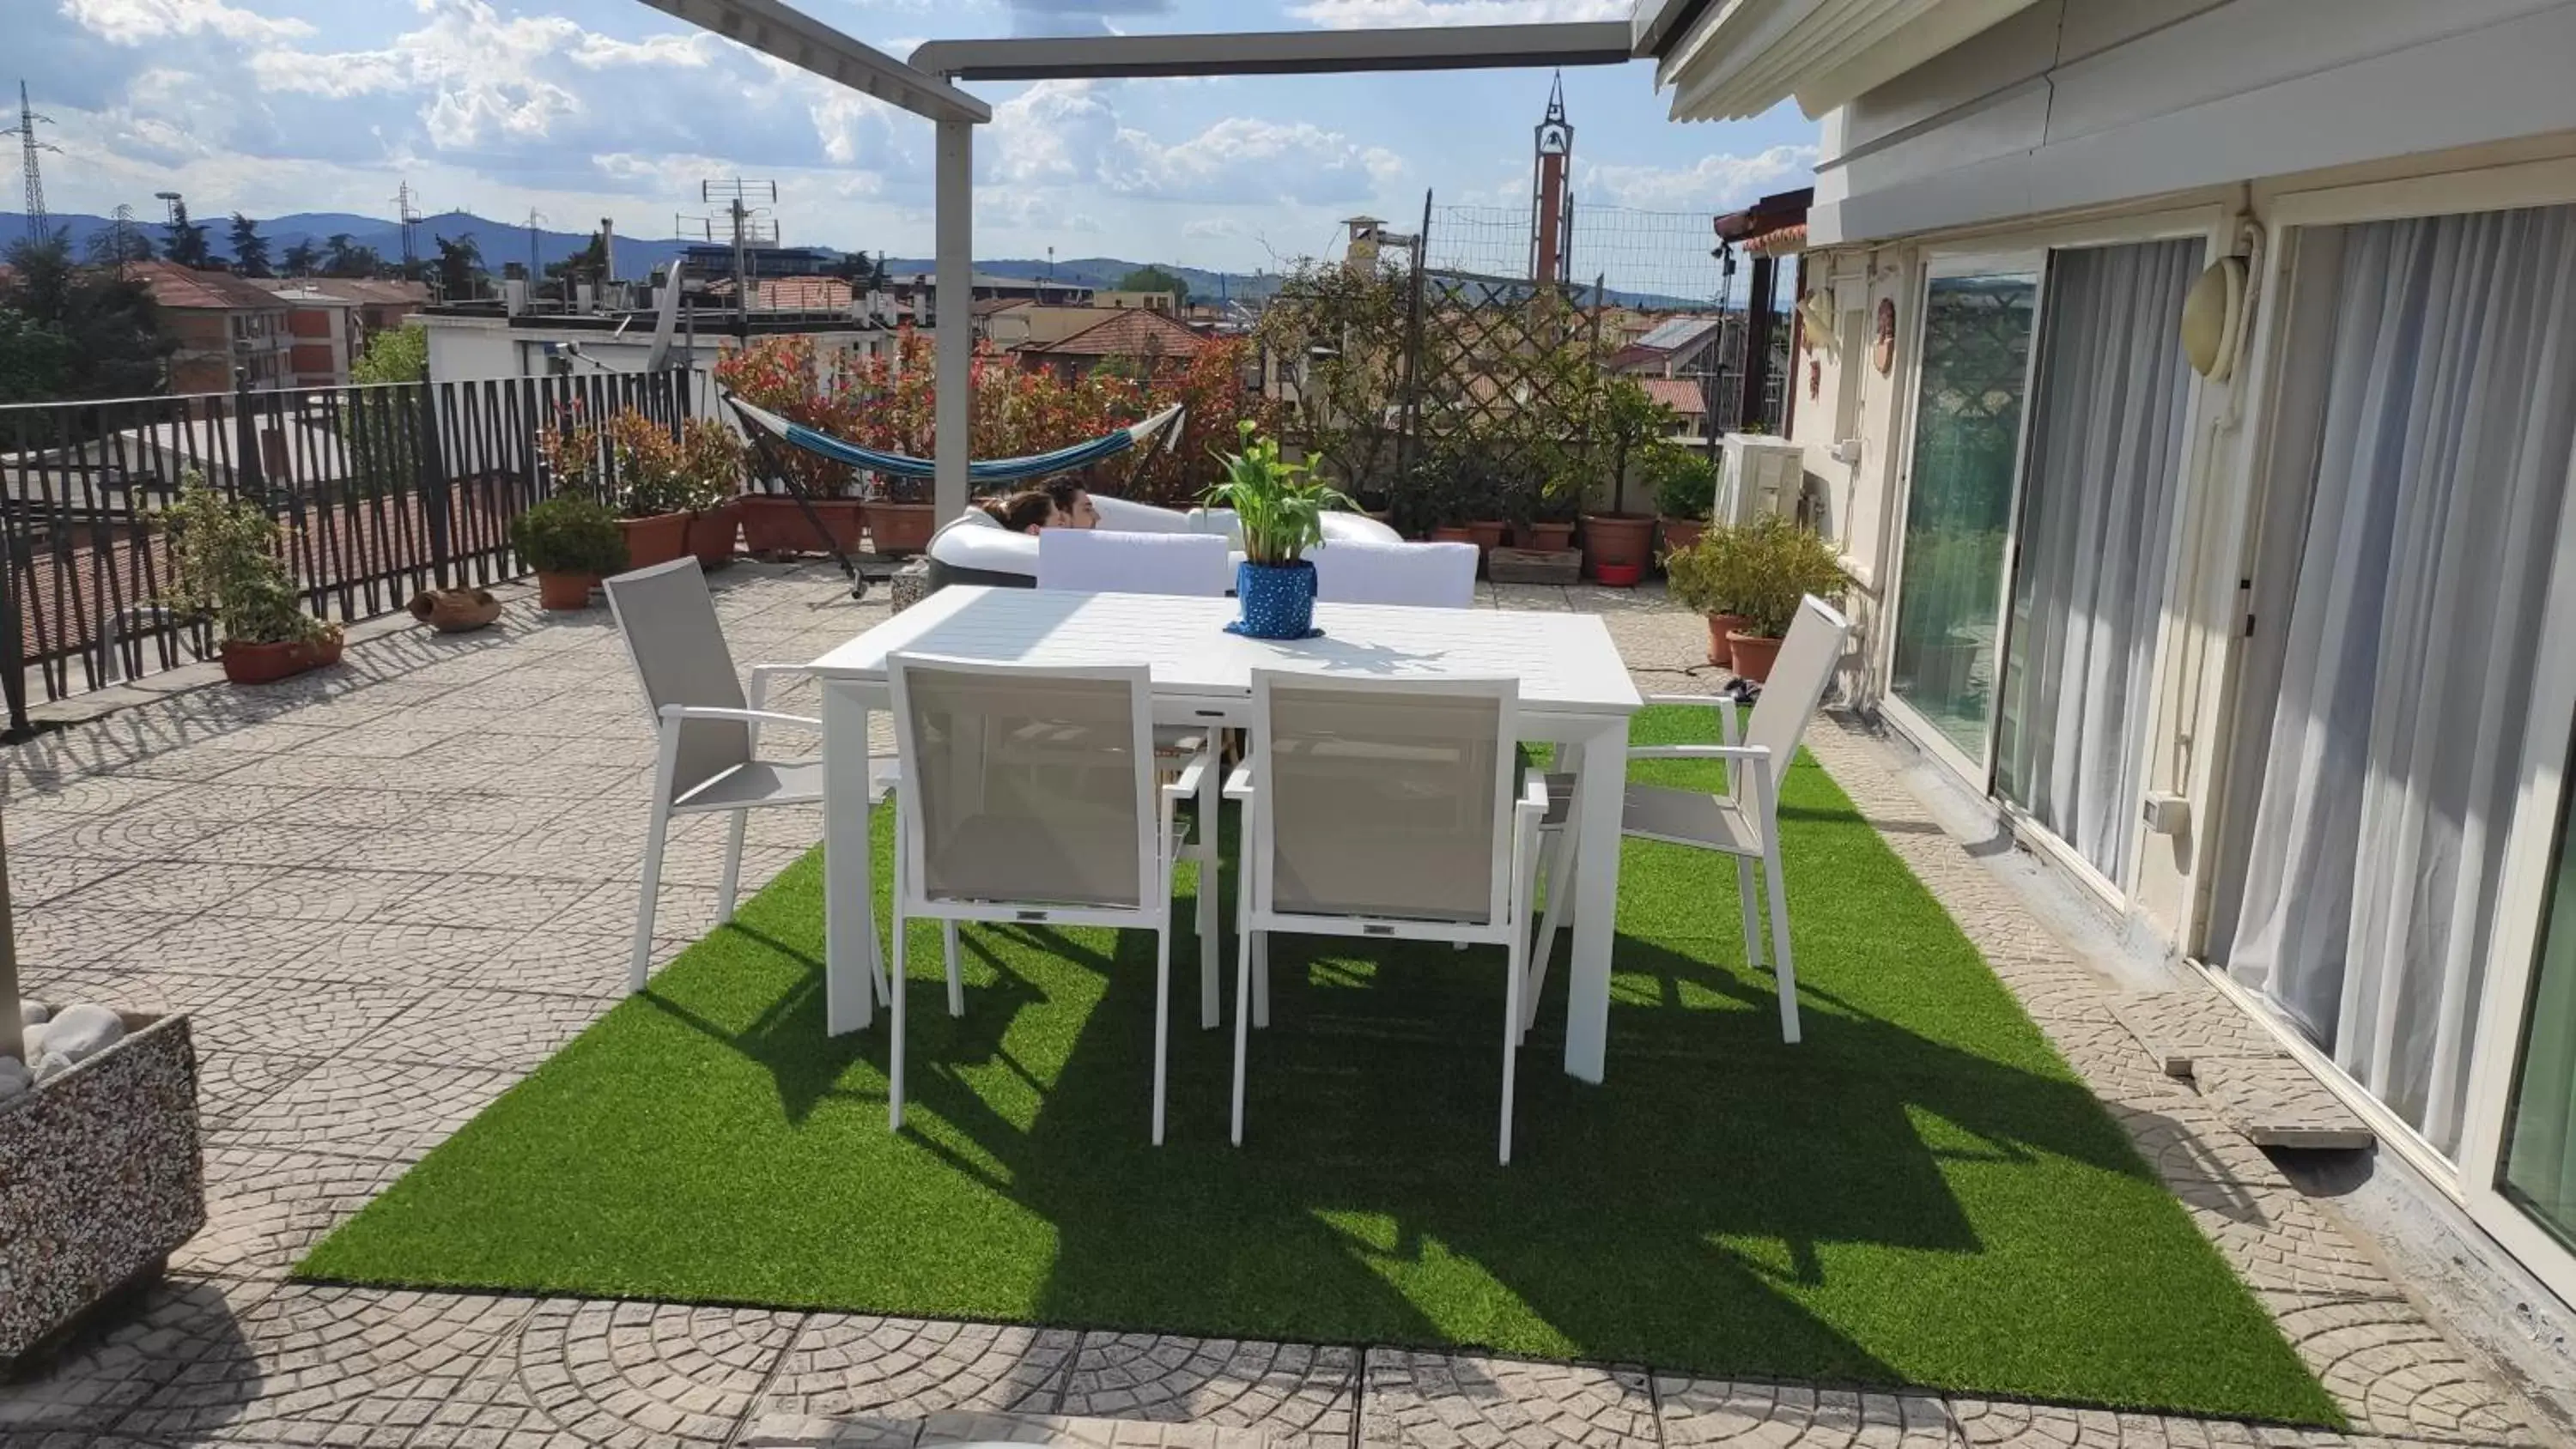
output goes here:
<path id="1" fill-rule="evenodd" d="M 793 0 L 904 57 L 925 39 L 1625 18 L 1628 0 Z M 157 219 L 477 211 L 670 237 L 703 178 L 775 180 L 791 245 L 930 252 L 933 129 L 639 0 L 0 0 L 52 211 Z M 0 75 L 0 82 L 15 77 Z M 1808 183 L 1793 106 L 1672 124 L 1654 67 L 1571 69 L 1577 208 L 1716 214 Z M 976 255 L 1275 270 L 1340 219 L 1525 208 L 1548 75 L 974 85 Z M 0 172 L 5 175 L 5 172 Z M 0 183 L 0 206 L 18 206 Z M 1623 219 L 1638 250 L 1705 221 Z M 1455 242 L 1463 226 L 1435 229 Z M 1502 237 L 1502 232 L 1497 232 Z M 1584 270 L 1584 260 L 1577 260 Z M 1631 268 L 1636 270 L 1636 268 Z"/>

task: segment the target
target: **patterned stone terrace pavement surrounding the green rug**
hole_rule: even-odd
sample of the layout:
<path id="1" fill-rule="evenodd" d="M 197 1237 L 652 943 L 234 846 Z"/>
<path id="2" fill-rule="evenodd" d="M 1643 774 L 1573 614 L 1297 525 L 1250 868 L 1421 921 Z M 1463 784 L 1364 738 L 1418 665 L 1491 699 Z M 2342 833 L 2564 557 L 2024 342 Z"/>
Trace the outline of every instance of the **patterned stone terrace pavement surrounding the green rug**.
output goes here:
<path id="1" fill-rule="evenodd" d="M 1654 592 L 1486 597 L 1602 613 L 1646 690 L 1716 685 L 1700 620 Z M 884 618 L 881 597 L 853 605 L 811 566 L 737 566 L 719 610 L 744 667 L 811 659 Z M 811 713 L 811 687 L 773 708 Z M 289 1284 L 314 1241 L 623 991 L 641 703 L 605 610 L 513 602 L 487 633 L 392 633 L 332 672 L 175 692 L 0 752 L 26 986 L 196 1014 L 211 1215 L 165 1282 L 0 1387 L 0 1449 L 2558 1441 L 2133 1029 L 2182 1019 L 2197 1035 L 2161 1050 L 2244 1045 L 2226 1017 L 2123 1001 L 1932 824 L 1883 741 L 1826 723 L 1811 746 L 2272 1307 L 2354 1436 L 1628 1364 Z M 752 816 L 744 891 L 819 834 L 811 811 Z M 714 916 L 721 826 L 683 821 L 667 854 L 662 955 Z"/>

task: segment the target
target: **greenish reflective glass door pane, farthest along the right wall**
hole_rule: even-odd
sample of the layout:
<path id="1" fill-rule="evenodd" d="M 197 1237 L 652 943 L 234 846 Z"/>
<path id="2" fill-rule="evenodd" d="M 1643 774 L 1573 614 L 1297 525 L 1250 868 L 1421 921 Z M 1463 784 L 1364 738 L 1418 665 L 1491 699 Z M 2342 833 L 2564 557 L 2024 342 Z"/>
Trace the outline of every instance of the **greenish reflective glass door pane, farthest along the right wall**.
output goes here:
<path id="1" fill-rule="evenodd" d="M 1924 293 L 1888 687 L 1981 782 L 2038 311 L 2038 257 L 1935 270 Z"/>

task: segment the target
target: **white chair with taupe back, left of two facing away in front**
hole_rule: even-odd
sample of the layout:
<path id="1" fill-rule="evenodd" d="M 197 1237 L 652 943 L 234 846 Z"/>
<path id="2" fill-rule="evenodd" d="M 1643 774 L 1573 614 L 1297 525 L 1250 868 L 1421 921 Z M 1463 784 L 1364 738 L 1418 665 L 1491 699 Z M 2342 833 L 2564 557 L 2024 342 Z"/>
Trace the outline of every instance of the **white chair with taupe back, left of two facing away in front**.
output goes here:
<path id="1" fill-rule="evenodd" d="M 894 1045 L 886 1127 L 904 1125 L 904 937 L 933 916 L 948 947 L 948 1014 L 966 1014 L 958 921 L 1154 932 L 1154 1117 L 1162 1145 L 1172 1035 L 1172 808 L 1198 793 L 1198 754 L 1157 785 L 1144 664 L 1036 669 L 894 654 L 902 806 L 894 844 Z M 1200 937 L 1200 952 L 1208 950 Z"/>

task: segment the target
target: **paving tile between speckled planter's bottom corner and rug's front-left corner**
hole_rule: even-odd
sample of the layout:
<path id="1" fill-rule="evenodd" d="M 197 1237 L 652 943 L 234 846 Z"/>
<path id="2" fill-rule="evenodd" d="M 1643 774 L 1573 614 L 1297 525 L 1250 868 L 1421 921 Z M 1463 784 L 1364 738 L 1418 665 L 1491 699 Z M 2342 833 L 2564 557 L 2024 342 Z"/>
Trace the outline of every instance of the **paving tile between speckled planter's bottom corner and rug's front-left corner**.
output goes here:
<path id="1" fill-rule="evenodd" d="M 211 1145 L 206 1228 L 170 1253 L 170 1269 L 276 1279 L 404 1171 L 381 1158 Z"/>

